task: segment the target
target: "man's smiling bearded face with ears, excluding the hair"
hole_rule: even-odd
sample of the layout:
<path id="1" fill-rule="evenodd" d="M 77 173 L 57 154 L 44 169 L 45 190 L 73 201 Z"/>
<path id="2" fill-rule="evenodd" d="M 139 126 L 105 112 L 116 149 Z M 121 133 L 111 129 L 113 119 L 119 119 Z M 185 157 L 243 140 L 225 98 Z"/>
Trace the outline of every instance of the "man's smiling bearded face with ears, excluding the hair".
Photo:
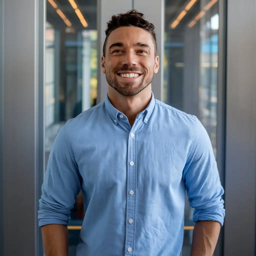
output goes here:
<path id="1" fill-rule="evenodd" d="M 108 84 L 116 91 L 124 96 L 138 94 L 159 69 L 151 34 L 138 27 L 115 29 L 108 37 L 101 66 Z"/>

